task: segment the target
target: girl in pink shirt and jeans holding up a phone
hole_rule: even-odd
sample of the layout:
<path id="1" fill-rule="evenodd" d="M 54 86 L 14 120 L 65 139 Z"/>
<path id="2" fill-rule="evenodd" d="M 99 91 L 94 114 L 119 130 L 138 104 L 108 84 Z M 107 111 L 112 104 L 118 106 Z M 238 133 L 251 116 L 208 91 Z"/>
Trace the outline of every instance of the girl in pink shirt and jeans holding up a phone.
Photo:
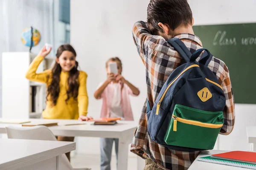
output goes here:
<path id="1" fill-rule="evenodd" d="M 116 62 L 118 74 L 110 72 L 109 64 Z M 94 97 L 102 99 L 101 117 L 121 117 L 133 120 L 129 95 L 138 96 L 140 91 L 124 77 L 122 77 L 122 62 L 118 57 L 110 58 L 106 62 L 108 78 L 100 83 Z M 101 170 L 110 170 L 111 151 L 115 141 L 116 159 L 118 153 L 118 139 L 101 138 Z"/>

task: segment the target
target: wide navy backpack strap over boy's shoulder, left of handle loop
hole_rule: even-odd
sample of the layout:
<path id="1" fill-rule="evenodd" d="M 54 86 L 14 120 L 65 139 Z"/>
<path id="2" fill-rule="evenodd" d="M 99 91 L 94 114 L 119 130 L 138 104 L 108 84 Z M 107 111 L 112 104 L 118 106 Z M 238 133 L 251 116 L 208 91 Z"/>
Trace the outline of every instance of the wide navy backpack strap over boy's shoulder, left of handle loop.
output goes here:
<path id="1" fill-rule="evenodd" d="M 186 47 L 186 45 L 179 39 L 179 38 L 172 38 L 170 40 L 167 40 L 176 51 L 180 54 L 180 56 L 186 61 L 189 62 L 189 59 L 191 57 L 191 52 Z"/>

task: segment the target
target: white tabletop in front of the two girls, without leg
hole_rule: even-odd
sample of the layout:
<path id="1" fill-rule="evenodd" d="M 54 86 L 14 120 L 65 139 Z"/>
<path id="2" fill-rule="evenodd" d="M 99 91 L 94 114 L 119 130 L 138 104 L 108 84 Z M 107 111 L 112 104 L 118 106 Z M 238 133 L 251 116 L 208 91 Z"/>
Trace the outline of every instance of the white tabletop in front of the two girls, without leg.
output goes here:
<path id="1" fill-rule="evenodd" d="M 0 121 L 12 121 L 15 119 L 0 119 Z M 87 136 L 87 137 L 113 137 L 116 138 L 126 133 L 134 133 L 138 123 L 135 121 L 117 121 L 116 125 L 92 125 L 93 122 L 81 122 L 79 120 L 63 119 L 26 119 L 35 124 L 58 122 L 58 126 L 49 127 L 55 135 Z M 75 125 L 73 125 L 75 124 Z M 79 125 L 76 125 L 79 124 Z M 0 133 L 6 133 L 7 126 L 21 126 L 20 124 L 0 123 Z"/>

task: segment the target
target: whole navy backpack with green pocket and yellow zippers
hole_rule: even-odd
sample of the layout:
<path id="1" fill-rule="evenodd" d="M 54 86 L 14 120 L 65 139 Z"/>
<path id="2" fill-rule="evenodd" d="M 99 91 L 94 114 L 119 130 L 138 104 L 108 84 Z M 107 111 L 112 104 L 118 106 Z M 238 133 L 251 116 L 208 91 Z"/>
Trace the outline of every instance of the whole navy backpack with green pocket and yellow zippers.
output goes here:
<path id="1" fill-rule="evenodd" d="M 173 150 L 212 150 L 224 124 L 226 105 L 223 89 L 207 67 L 212 54 L 205 48 L 191 54 L 178 38 L 167 42 L 185 63 L 169 76 L 152 109 L 147 100 L 150 138 Z"/>

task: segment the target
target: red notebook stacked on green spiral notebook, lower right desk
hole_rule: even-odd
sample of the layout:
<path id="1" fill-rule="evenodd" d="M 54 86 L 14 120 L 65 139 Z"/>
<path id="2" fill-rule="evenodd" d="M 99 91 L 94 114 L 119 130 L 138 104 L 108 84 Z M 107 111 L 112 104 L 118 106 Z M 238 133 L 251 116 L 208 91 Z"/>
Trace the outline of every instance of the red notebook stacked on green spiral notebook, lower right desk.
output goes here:
<path id="1" fill-rule="evenodd" d="M 231 151 L 226 153 L 214 154 L 212 156 L 197 158 L 197 160 L 256 170 L 255 152 Z"/>

